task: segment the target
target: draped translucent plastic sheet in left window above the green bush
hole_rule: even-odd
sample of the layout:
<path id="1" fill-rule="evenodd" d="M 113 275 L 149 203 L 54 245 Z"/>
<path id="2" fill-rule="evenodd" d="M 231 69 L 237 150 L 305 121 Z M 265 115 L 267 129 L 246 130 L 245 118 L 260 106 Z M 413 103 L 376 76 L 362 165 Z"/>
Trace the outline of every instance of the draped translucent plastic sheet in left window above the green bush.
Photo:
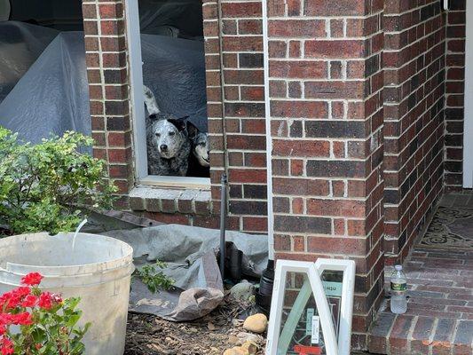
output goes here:
<path id="1" fill-rule="evenodd" d="M 32 143 L 75 130 L 91 134 L 82 32 L 62 32 L 0 104 L 0 124 Z"/>

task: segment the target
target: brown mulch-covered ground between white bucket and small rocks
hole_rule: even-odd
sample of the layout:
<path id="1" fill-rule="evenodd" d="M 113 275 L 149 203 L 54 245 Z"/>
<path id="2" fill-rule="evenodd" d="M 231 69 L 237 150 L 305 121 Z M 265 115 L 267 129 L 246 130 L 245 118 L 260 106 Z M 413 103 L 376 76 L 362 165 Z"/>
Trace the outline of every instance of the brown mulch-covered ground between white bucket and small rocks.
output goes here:
<path id="1" fill-rule="evenodd" d="M 130 313 L 124 355 L 221 355 L 239 345 L 237 335 L 245 332 L 241 319 L 250 308 L 226 297 L 208 316 L 185 323 Z M 263 354 L 264 337 L 258 335 L 256 343 L 258 354 Z"/>

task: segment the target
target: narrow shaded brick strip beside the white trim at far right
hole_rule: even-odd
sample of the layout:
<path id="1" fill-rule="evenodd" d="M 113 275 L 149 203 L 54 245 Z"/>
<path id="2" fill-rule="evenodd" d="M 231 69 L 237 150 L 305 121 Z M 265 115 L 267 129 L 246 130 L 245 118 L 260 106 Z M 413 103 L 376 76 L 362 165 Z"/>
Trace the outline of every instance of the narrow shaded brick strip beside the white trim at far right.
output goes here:
<path id="1" fill-rule="evenodd" d="M 446 24 L 445 189 L 462 188 L 466 0 L 451 2 Z"/>

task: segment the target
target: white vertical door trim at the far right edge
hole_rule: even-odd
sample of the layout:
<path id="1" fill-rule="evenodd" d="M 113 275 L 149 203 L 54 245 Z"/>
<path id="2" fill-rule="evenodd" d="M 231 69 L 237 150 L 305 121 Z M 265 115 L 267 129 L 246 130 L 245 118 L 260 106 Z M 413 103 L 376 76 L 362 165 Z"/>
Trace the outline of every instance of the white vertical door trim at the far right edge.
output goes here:
<path id="1" fill-rule="evenodd" d="M 473 0 L 467 3 L 465 49 L 465 118 L 463 130 L 463 187 L 473 187 Z"/>

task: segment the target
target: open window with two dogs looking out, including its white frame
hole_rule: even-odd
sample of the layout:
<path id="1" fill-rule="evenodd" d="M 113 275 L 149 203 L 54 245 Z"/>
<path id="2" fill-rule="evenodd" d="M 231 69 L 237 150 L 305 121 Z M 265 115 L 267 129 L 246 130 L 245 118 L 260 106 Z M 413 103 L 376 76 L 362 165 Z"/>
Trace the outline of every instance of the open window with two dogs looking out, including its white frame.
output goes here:
<path id="1" fill-rule="evenodd" d="M 138 184 L 209 188 L 201 0 L 125 6 Z"/>

